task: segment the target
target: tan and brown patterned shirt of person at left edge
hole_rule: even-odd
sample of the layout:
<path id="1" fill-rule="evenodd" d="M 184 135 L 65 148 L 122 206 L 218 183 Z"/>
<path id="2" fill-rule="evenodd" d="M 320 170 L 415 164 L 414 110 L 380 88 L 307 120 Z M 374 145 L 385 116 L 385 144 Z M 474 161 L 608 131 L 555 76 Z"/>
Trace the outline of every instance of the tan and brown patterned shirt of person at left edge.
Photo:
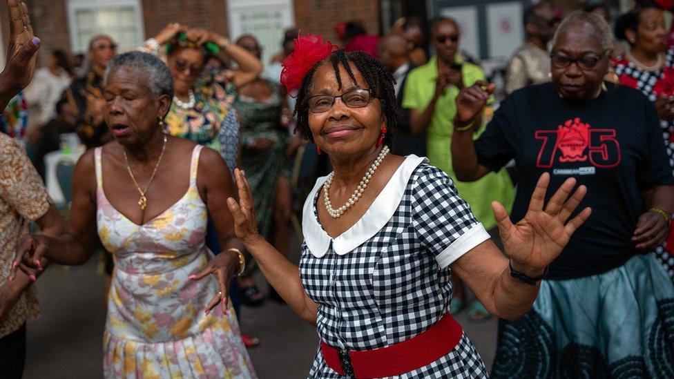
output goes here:
<path id="1" fill-rule="evenodd" d="M 0 133 L 0 285 L 7 284 L 19 237 L 28 233 L 30 222 L 47 213 L 50 204 L 26 152 L 14 139 Z M 0 320 L 0 338 L 38 315 L 37 293 L 31 286 Z"/>

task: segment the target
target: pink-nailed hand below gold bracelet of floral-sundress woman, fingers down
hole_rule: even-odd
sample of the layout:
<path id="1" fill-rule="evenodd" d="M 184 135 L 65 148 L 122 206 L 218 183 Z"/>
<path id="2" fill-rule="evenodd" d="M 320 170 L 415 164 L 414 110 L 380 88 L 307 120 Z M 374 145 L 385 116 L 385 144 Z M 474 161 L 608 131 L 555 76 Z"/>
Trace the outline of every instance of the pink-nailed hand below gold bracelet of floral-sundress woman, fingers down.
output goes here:
<path id="1" fill-rule="evenodd" d="M 215 255 L 215 257 L 206 265 L 202 271 L 195 275 L 190 275 L 191 280 L 200 280 L 206 276 L 214 274 L 218 278 L 218 288 L 220 289 L 211 299 L 209 304 L 206 304 L 206 315 L 211 312 L 218 303 L 222 307 L 222 313 L 229 315 L 229 304 L 227 302 L 227 286 L 231 283 L 235 273 L 239 269 L 238 254 L 233 251 L 222 251 L 222 253 Z"/>

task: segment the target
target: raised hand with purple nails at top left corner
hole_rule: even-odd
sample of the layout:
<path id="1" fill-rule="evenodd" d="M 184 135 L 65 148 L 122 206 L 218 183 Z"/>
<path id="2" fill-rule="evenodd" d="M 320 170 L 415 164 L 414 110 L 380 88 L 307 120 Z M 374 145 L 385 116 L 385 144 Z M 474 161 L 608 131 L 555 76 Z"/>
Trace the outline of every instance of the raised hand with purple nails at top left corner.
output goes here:
<path id="1" fill-rule="evenodd" d="M 26 3 L 7 0 L 7 8 L 10 15 L 10 41 L 7 63 L 0 74 L 0 85 L 8 91 L 8 95 L 14 96 L 32 80 L 40 39 L 33 35 Z"/>

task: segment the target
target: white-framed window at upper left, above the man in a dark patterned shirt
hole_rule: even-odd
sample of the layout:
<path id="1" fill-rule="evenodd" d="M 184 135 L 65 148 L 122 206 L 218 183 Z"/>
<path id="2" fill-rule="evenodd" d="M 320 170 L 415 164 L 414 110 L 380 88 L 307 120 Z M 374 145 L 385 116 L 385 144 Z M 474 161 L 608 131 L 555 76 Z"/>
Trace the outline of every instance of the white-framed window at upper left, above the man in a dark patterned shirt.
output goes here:
<path id="1" fill-rule="evenodd" d="M 139 0 L 70 0 L 68 1 L 70 47 L 86 52 L 95 35 L 113 37 L 124 52 L 140 46 L 145 39 Z"/>

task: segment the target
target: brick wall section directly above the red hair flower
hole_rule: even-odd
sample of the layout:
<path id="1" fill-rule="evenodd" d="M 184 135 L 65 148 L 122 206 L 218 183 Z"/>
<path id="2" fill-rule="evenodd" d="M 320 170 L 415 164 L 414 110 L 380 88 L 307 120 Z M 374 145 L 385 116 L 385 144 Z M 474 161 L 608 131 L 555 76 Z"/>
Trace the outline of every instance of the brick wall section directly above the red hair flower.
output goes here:
<path id="1" fill-rule="evenodd" d="M 295 23 L 302 34 L 317 33 L 338 43 L 335 26 L 358 20 L 367 32 L 379 33 L 378 0 L 295 0 Z"/>

